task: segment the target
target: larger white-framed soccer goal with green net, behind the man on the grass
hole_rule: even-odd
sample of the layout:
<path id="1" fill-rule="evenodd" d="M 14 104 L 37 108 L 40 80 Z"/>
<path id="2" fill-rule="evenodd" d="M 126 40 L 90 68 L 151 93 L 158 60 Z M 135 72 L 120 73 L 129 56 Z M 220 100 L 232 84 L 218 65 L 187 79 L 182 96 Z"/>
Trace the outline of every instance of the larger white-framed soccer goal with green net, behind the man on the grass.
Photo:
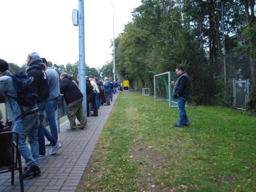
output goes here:
<path id="1" fill-rule="evenodd" d="M 177 107 L 177 99 L 172 99 L 174 86 L 171 81 L 176 81 L 177 75 L 174 72 L 161 73 L 154 76 L 154 100 L 168 101 L 169 107 Z"/>

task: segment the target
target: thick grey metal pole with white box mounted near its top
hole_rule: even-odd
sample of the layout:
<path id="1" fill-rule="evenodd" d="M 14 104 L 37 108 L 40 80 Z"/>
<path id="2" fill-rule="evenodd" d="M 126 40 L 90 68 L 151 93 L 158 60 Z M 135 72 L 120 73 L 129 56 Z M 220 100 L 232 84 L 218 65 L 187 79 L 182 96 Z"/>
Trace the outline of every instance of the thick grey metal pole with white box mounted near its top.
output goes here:
<path id="1" fill-rule="evenodd" d="M 73 25 L 79 26 L 79 89 L 84 96 L 83 111 L 86 108 L 85 51 L 84 51 L 84 0 L 78 0 L 78 11 L 73 10 Z M 87 115 L 85 115 L 85 118 Z"/>

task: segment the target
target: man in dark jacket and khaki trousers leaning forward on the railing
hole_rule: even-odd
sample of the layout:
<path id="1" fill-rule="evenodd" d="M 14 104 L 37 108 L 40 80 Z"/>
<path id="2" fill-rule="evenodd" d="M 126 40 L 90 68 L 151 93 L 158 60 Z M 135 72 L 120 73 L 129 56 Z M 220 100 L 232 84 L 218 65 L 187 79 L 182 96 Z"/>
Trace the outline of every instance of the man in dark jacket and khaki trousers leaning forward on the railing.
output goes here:
<path id="1" fill-rule="evenodd" d="M 79 129 L 87 129 L 87 122 L 83 111 L 83 94 L 70 79 L 67 73 L 61 73 L 60 91 L 64 94 L 64 99 L 67 104 L 67 117 L 70 121 L 70 128 L 67 131 L 76 131 L 76 118 L 81 123 Z"/>

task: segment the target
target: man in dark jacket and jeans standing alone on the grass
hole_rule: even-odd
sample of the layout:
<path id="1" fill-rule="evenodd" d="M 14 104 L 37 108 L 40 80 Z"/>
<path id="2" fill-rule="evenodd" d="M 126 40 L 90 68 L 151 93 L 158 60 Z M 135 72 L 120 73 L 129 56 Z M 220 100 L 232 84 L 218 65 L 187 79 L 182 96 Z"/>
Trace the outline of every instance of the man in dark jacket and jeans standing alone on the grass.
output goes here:
<path id="1" fill-rule="evenodd" d="M 186 100 L 189 98 L 190 77 L 182 67 L 177 67 L 176 74 L 178 75 L 177 81 L 171 82 L 171 84 L 174 85 L 172 97 L 177 98 L 180 119 L 179 122 L 173 126 L 183 127 L 189 125 L 189 119 L 185 111 L 185 104 Z"/>

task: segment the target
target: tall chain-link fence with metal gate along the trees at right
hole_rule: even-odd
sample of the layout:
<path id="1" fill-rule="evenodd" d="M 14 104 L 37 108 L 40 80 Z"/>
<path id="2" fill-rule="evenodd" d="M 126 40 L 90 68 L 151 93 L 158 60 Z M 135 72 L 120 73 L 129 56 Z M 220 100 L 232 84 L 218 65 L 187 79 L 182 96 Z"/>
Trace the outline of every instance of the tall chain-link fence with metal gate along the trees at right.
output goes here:
<path id="1" fill-rule="evenodd" d="M 239 108 L 243 105 L 241 109 L 245 109 L 248 96 L 240 96 L 246 94 L 245 92 L 250 93 L 250 87 L 255 83 L 256 64 L 250 62 L 246 56 L 225 55 L 225 58 L 215 58 L 199 65 L 202 67 L 203 76 L 202 82 L 198 84 L 201 84 L 200 93 L 204 103 L 236 107 L 236 101 L 239 101 Z M 198 76 L 194 79 L 198 79 Z M 235 84 L 236 92 L 233 92 L 234 82 L 242 80 L 248 82 L 247 87 L 241 83 Z M 196 93 L 192 94 L 196 96 Z M 234 100 L 235 98 L 239 99 Z"/>

